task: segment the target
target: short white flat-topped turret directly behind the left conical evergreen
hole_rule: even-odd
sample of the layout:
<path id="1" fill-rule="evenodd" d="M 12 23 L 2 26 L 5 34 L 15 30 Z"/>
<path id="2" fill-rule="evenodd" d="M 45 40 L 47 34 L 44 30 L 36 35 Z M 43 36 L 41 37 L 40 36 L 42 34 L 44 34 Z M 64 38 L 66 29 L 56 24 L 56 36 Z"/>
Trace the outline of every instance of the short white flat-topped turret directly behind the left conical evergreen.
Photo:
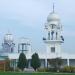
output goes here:
<path id="1" fill-rule="evenodd" d="M 18 43 L 18 53 L 31 54 L 31 41 L 28 38 L 21 38 Z"/>

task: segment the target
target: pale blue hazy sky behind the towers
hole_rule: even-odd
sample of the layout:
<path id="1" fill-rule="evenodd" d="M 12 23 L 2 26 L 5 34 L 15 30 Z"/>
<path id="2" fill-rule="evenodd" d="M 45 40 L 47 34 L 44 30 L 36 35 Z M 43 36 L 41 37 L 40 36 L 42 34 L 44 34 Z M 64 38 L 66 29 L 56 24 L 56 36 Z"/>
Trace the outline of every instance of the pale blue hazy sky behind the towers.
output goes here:
<path id="1" fill-rule="evenodd" d="M 10 31 L 15 41 L 20 37 L 29 38 L 33 51 L 45 52 L 44 25 L 53 2 L 63 25 L 65 41 L 62 50 L 74 53 L 75 0 L 0 0 L 0 43 Z"/>

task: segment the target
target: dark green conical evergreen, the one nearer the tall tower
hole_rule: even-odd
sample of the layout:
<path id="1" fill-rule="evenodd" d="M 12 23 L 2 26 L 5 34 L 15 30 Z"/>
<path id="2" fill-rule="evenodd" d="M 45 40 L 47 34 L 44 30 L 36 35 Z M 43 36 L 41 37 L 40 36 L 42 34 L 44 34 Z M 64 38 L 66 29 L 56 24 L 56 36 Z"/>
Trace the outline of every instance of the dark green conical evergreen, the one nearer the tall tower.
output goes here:
<path id="1" fill-rule="evenodd" d="M 41 62 L 37 53 L 34 53 L 32 55 L 31 66 L 34 68 L 35 71 L 41 66 Z"/>

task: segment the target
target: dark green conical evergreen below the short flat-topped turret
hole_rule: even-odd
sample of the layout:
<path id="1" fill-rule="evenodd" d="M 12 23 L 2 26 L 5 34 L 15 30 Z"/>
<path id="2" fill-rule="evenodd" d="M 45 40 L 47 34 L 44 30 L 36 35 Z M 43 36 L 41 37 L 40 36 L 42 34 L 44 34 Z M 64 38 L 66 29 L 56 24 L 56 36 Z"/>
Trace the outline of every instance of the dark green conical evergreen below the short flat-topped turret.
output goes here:
<path id="1" fill-rule="evenodd" d="M 17 67 L 23 71 L 26 66 L 27 66 L 26 56 L 24 53 L 21 53 L 19 56 Z"/>

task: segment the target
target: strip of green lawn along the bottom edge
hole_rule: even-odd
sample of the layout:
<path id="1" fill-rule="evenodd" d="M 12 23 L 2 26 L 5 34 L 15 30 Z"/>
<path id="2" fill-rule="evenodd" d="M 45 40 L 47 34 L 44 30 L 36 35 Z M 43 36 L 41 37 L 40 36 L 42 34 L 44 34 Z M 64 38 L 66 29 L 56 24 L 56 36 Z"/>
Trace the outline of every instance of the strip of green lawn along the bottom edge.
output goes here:
<path id="1" fill-rule="evenodd" d="M 0 72 L 0 75 L 75 75 L 75 73 L 17 73 L 17 72 Z"/>

